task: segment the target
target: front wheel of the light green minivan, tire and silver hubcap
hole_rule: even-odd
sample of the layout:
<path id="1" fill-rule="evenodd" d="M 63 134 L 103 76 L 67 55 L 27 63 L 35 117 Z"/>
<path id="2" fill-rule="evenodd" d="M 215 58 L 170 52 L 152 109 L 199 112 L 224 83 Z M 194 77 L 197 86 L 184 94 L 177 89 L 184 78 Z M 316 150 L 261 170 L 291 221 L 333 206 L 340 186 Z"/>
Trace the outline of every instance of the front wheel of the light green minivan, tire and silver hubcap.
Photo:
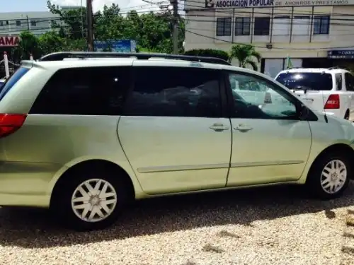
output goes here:
<path id="1" fill-rule="evenodd" d="M 341 169 L 341 174 L 338 174 L 338 170 L 333 170 L 333 178 L 326 178 L 324 174 L 331 176 L 329 169 L 331 169 L 333 165 Z M 353 166 L 346 154 L 338 151 L 325 153 L 321 155 L 319 159 L 315 160 L 309 171 L 309 175 L 307 175 L 307 191 L 318 199 L 327 200 L 338 198 L 347 189 L 352 174 Z M 329 188 L 327 188 L 329 183 L 337 183 L 338 190 L 332 189 L 332 191 L 330 191 Z"/>

